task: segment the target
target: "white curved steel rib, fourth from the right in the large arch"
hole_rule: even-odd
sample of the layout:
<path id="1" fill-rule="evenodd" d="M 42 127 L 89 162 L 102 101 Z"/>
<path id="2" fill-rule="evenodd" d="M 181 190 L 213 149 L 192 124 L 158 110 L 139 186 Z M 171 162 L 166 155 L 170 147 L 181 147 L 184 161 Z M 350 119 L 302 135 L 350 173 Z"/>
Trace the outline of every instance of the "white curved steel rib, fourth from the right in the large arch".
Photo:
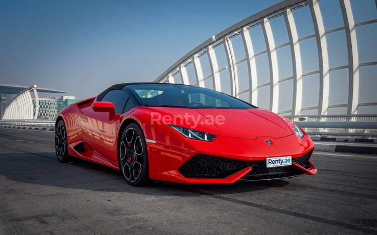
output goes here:
<path id="1" fill-rule="evenodd" d="M 264 34 L 264 40 L 266 42 L 268 63 L 269 63 L 269 74 L 270 74 L 270 99 L 269 99 L 269 109 L 272 112 L 278 111 L 279 104 L 279 71 L 277 67 L 277 56 L 275 42 L 273 40 L 273 34 L 271 30 L 271 25 L 267 18 L 261 21 L 262 30 Z"/>

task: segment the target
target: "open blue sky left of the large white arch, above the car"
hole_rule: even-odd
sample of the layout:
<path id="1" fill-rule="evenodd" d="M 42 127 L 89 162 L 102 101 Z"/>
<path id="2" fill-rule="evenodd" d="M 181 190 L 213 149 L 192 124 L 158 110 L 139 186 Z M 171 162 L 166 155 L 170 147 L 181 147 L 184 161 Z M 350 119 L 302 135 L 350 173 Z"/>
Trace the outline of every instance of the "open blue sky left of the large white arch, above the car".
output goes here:
<path id="1" fill-rule="evenodd" d="M 0 0 L 0 83 L 95 96 L 153 81 L 181 56 L 280 0 Z"/>

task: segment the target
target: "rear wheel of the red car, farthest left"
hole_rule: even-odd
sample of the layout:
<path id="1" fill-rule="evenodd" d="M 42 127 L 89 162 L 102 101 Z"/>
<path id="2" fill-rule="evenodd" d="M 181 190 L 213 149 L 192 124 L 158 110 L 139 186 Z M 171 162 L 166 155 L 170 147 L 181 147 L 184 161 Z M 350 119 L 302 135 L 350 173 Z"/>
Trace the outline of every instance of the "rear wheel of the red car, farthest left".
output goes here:
<path id="1" fill-rule="evenodd" d="M 68 162 L 71 157 L 68 155 L 67 129 L 64 121 L 60 120 L 55 128 L 55 152 L 59 162 Z"/>

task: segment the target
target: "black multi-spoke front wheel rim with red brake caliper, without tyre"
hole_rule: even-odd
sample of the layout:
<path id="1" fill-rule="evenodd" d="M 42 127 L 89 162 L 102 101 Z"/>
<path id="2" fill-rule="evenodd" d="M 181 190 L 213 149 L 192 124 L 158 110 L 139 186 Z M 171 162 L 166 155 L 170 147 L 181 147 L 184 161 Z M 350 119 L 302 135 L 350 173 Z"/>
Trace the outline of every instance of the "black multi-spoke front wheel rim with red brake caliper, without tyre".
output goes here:
<path id="1" fill-rule="evenodd" d="M 143 155 L 143 143 L 139 132 L 135 128 L 128 128 L 122 135 L 119 157 L 121 171 L 129 182 L 139 179 L 143 169 Z"/>

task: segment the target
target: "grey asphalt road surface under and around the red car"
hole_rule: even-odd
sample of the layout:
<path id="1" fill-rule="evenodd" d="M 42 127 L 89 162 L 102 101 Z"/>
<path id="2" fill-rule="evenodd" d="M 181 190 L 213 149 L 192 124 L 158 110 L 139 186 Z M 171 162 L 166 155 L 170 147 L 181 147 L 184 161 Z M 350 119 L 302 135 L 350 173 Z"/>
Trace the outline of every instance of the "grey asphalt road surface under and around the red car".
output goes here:
<path id="1" fill-rule="evenodd" d="M 0 234 L 377 234 L 377 156 L 312 162 L 316 175 L 289 180 L 132 187 L 59 163 L 53 132 L 0 128 Z"/>

